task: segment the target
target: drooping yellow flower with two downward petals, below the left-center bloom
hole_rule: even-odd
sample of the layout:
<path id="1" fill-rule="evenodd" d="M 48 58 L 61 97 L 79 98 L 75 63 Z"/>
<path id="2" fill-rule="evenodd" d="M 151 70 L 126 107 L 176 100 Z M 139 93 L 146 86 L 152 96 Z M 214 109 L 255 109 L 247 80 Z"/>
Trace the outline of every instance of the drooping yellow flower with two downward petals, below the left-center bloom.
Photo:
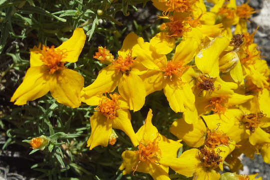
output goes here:
<path id="1" fill-rule="evenodd" d="M 130 122 L 130 113 L 126 109 L 127 103 L 117 93 L 106 96 L 95 96 L 95 103 L 99 101 L 93 115 L 90 117 L 91 135 L 87 140 L 87 147 L 91 150 L 97 145 L 114 144 L 117 138 L 112 128 L 120 129 L 137 145 L 135 132 Z M 99 100 L 97 100 L 99 99 Z"/>

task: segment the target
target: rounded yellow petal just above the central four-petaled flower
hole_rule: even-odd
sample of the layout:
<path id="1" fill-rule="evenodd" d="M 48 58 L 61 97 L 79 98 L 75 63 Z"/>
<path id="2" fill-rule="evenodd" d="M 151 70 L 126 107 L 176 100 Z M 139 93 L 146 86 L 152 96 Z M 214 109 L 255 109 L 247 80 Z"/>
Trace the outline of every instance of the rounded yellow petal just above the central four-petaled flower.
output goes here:
<path id="1" fill-rule="evenodd" d="M 158 54 L 169 53 L 175 43 L 175 38 L 167 36 L 166 32 L 162 31 L 150 39 L 150 48 Z"/>

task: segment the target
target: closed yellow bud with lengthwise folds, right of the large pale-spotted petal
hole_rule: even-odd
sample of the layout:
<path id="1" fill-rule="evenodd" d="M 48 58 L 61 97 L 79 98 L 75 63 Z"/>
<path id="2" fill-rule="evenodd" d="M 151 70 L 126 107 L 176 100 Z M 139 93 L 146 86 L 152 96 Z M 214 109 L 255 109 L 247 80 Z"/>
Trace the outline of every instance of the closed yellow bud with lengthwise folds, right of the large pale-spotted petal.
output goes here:
<path id="1" fill-rule="evenodd" d="M 236 52 L 231 51 L 226 53 L 219 59 L 219 70 L 221 72 L 228 72 L 236 65 L 238 60 L 239 57 Z"/>

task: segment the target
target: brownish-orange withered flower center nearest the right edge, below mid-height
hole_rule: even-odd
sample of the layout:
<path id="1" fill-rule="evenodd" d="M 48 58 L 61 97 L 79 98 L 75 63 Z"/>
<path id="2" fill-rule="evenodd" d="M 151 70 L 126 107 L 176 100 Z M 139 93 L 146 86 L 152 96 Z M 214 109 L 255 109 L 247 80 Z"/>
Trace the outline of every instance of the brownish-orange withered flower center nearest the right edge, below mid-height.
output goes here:
<path id="1" fill-rule="evenodd" d="M 266 116 L 266 114 L 262 112 L 245 114 L 242 118 L 242 122 L 246 129 L 249 129 L 251 132 L 254 132 L 260 123 L 259 119 L 264 116 Z"/>

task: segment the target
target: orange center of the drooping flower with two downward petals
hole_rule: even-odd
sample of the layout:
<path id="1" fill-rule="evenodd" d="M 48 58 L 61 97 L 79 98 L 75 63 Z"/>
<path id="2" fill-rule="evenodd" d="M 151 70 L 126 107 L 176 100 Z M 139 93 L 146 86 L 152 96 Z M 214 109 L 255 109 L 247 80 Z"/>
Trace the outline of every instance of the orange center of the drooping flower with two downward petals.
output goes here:
<path id="1" fill-rule="evenodd" d="M 98 106 L 94 108 L 95 110 L 101 112 L 105 117 L 107 117 L 107 120 L 114 119 L 116 117 L 116 110 L 120 108 L 118 105 L 118 98 L 120 95 L 113 93 L 109 94 L 109 96 L 111 99 L 104 97 Z"/>

